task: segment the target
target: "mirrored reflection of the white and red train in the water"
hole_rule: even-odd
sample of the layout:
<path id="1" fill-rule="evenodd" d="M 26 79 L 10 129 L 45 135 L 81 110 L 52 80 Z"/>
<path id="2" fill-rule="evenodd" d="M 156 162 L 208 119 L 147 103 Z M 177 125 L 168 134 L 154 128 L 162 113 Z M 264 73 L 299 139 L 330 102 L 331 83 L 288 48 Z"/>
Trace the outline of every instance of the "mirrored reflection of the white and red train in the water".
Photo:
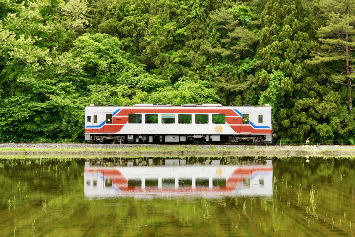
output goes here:
<path id="1" fill-rule="evenodd" d="M 188 161 L 189 163 L 189 161 Z M 124 166 L 85 162 L 84 194 L 87 198 L 133 196 L 268 196 L 273 194 L 272 160 L 247 165 L 220 165 L 204 160 L 194 165 L 186 160 L 138 159 Z"/>

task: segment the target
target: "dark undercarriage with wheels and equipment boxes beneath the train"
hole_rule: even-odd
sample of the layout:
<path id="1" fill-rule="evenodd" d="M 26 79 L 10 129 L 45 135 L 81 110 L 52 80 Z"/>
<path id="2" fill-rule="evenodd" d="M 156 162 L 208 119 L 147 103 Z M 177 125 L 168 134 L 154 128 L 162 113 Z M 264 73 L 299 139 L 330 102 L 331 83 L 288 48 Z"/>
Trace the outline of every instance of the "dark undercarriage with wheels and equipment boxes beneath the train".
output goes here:
<path id="1" fill-rule="evenodd" d="M 117 134 L 86 134 L 86 140 L 94 142 L 132 142 L 132 143 L 191 143 L 191 142 L 222 142 L 231 144 L 239 144 L 243 142 L 253 142 L 253 144 L 266 143 L 270 144 L 272 135 L 117 135 Z"/>

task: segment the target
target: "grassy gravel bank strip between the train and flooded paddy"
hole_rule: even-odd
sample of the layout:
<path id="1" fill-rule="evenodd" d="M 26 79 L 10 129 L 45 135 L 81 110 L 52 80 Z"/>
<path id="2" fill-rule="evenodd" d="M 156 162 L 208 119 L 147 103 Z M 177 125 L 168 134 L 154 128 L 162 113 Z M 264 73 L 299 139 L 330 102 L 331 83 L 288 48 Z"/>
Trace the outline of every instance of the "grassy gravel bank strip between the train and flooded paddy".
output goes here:
<path id="1" fill-rule="evenodd" d="M 240 156 L 240 157 L 355 157 L 355 147 L 335 145 L 257 146 L 257 145 L 157 145 L 157 144 L 38 144 L 2 143 L 0 157 L 80 156 L 80 157 L 162 157 L 162 156 Z"/>

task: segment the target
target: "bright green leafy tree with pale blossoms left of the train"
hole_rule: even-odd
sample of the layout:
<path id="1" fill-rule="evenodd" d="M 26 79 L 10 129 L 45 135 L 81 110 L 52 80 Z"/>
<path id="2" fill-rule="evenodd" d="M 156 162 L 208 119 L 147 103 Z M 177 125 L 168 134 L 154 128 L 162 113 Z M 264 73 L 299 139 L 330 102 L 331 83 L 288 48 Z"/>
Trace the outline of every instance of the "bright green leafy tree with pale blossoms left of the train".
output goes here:
<path id="1" fill-rule="evenodd" d="M 65 51 L 86 26 L 86 0 L 7 3 L 0 23 L 0 138 L 81 136 L 85 103 L 77 88 L 85 80 Z"/>

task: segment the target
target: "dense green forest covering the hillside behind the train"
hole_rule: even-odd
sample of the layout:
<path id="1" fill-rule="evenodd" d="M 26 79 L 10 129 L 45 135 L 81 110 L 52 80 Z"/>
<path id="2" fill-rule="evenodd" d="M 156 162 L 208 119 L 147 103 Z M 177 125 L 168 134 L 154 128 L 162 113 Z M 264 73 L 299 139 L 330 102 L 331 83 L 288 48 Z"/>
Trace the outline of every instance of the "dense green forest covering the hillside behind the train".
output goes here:
<path id="1" fill-rule="evenodd" d="M 0 0 L 0 141 L 83 141 L 89 104 L 270 104 L 355 144 L 355 0 Z"/>

